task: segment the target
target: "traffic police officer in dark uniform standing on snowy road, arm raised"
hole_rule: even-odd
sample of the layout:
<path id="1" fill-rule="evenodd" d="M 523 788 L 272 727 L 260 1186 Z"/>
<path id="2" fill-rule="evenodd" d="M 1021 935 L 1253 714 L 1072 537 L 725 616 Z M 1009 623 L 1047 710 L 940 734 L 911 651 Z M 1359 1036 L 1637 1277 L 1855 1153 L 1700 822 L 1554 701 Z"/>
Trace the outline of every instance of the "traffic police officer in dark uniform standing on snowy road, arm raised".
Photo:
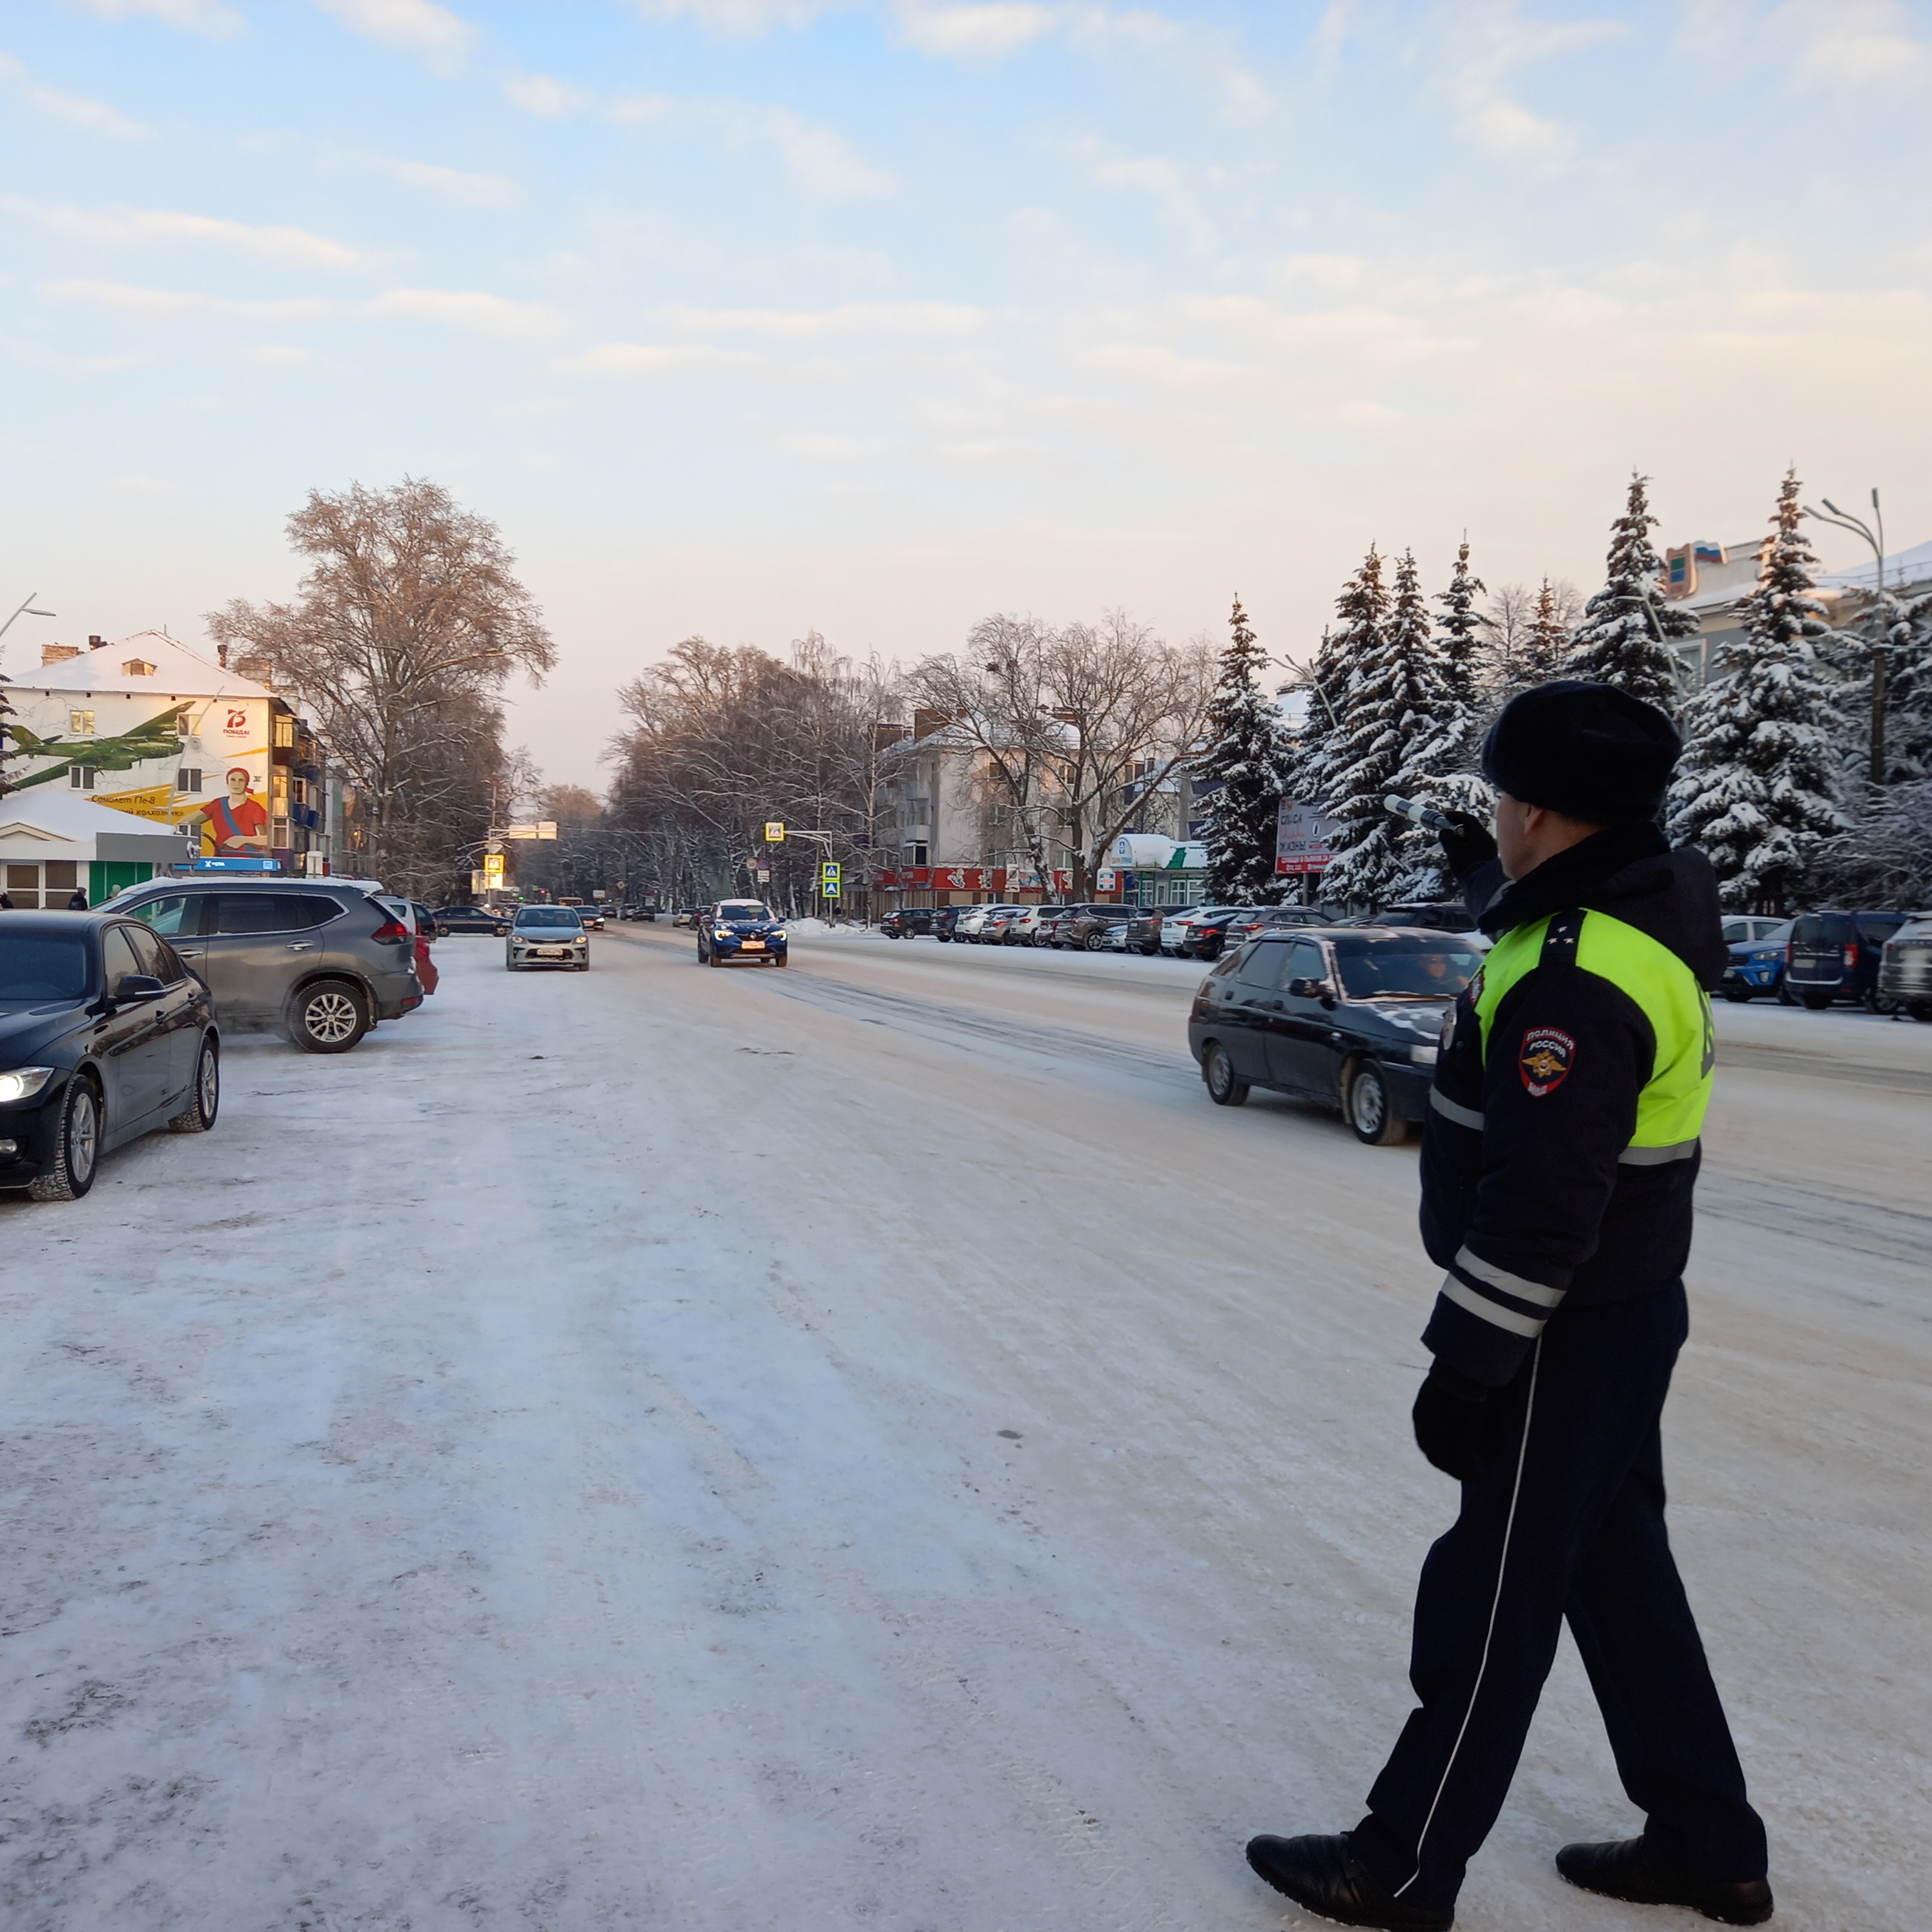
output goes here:
<path id="1" fill-rule="evenodd" d="M 1493 838 L 1470 817 L 1443 835 L 1495 939 L 1422 1144 L 1422 1238 L 1447 1275 L 1414 1432 L 1463 1509 L 1422 1565 L 1420 1708 L 1368 1816 L 1248 1845 L 1277 1891 L 1341 1924 L 1453 1922 L 1565 1617 L 1644 1832 L 1569 1845 L 1557 1870 L 1721 1924 L 1772 1917 L 1764 1826 L 1663 1530 L 1658 1424 L 1725 966 L 1710 864 L 1658 829 L 1679 750 L 1625 692 L 1542 684 L 1484 744 Z"/>

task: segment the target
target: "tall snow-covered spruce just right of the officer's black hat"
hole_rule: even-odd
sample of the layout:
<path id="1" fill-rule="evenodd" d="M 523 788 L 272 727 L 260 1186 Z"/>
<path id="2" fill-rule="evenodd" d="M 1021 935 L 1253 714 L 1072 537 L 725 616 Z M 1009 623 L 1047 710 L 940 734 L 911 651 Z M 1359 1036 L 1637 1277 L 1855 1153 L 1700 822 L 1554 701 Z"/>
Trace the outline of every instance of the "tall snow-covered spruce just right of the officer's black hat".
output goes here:
<path id="1" fill-rule="evenodd" d="M 1671 835 L 1700 844 L 1733 908 L 1783 912 L 1822 840 L 1845 831 L 1837 806 L 1837 692 L 1818 665 L 1830 634 L 1812 595 L 1818 558 L 1799 527 L 1799 479 L 1777 491 L 1745 634 L 1685 709 Z"/>

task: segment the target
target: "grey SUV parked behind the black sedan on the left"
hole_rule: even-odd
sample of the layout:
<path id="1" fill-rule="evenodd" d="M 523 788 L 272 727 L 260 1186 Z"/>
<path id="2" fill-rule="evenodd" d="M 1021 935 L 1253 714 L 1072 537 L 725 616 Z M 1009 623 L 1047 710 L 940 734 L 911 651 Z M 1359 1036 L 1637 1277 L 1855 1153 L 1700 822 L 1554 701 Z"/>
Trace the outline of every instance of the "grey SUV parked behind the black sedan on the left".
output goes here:
<path id="1" fill-rule="evenodd" d="M 149 879 L 102 910 L 145 920 L 214 995 L 222 1032 L 348 1053 L 423 1005 L 415 933 L 369 879 Z"/>

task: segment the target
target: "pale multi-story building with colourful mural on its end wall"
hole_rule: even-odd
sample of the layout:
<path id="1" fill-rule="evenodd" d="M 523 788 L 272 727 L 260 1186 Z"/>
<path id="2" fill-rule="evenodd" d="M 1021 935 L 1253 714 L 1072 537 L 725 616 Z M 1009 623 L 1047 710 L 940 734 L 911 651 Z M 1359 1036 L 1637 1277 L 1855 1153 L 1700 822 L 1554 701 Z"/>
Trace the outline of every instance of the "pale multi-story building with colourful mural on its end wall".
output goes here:
<path id="1" fill-rule="evenodd" d="M 327 871 L 342 850 L 340 782 L 321 738 L 265 667 L 228 668 L 145 630 L 85 649 L 46 645 L 15 672 L 15 788 L 79 798 L 199 837 L 205 858 Z"/>

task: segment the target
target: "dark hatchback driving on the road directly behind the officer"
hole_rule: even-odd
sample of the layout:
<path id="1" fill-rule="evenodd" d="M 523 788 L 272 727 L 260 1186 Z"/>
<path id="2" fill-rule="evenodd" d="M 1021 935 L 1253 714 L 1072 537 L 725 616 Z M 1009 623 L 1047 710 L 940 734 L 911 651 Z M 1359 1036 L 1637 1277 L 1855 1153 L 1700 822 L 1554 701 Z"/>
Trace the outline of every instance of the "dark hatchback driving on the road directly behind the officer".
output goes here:
<path id="1" fill-rule="evenodd" d="M 1221 1107 L 1275 1088 L 1341 1107 L 1356 1140 L 1389 1146 L 1428 1109 L 1443 1012 L 1478 966 L 1455 933 L 1269 931 L 1202 981 L 1188 1047 Z"/>

